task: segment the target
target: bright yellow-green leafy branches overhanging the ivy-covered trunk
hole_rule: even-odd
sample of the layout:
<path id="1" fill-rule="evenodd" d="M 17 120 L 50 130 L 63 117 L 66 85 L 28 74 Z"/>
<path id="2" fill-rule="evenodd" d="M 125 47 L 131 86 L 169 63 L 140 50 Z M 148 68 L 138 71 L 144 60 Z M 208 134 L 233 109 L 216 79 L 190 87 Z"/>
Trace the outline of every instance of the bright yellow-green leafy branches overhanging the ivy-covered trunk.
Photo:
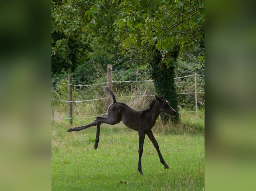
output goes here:
<path id="1" fill-rule="evenodd" d="M 118 22 L 123 49 L 144 52 L 144 57 L 157 49 L 167 68 L 175 67 L 171 54 L 176 44 L 183 51 L 193 48 L 204 31 L 204 1 L 124 1 L 122 6 L 126 14 Z"/>

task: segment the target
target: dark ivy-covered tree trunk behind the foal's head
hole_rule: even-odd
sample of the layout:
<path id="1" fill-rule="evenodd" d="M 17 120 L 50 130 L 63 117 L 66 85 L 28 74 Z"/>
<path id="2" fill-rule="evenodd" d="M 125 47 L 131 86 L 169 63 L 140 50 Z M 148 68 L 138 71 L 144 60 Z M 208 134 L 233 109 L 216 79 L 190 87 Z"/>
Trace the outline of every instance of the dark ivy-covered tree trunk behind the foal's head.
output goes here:
<path id="1" fill-rule="evenodd" d="M 173 48 L 173 52 L 170 54 L 171 58 L 173 58 L 175 62 L 178 57 L 179 49 L 180 49 L 179 45 L 176 45 Z M 156 93 L 158 95 L 163 93 L 164 98 L 169 102 L 172 108 L 177 111 L 177 114 L 174 117 L 170 117 L 165 113 L 161 113 L 160 114 L 161 120 L 163 122 L 171 121 L 173 123 L 179 123 L 180 122 L 179 112 L 178 112 L 179 109 L 178 109 L 176 88 L 174 84 L 175 67 L 170 66 L 167 69 L 165 63 L 162 62 L 162 56 L 160 51 L 158 50 L 153 53 L 153 60 L 150 63 L 150 67 L 151 67 L 151 77 L 154 81 Z"/>

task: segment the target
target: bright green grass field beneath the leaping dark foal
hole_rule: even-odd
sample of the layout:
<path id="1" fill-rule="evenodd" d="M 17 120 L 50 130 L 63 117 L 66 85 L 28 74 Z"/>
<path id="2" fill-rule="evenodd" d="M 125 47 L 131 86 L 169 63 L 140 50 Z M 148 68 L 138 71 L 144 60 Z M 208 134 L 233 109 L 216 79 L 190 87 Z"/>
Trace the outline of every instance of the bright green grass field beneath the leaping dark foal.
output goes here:
<path id="1" fill-rule="evenodd" d="M 160 121 L 153 127 L 170 169 L 164 169 L 153 144 L 145 138 L 144 176 L 137 170 L 138 132 L 122 123 L 102 124 L 99 147 L 95 150 L 96 127 L 67 132 L 70 128 L 67 122 L 55 123 L 52 126 L 52 190 L 204 190 L 204 117 L 193 118 L 187 114 L 181 119 L 179 127 L 163 126 Z"/>

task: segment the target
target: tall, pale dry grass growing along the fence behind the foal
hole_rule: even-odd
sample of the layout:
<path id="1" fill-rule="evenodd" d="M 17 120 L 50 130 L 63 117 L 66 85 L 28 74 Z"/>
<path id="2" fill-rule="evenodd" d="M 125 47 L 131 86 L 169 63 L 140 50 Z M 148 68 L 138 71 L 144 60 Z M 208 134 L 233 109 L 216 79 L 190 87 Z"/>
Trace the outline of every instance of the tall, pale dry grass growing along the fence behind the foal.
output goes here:
<path id="1" fill-rule="evenodd" d="M 65 85 L 63 85 L 65 86 Z M 113 92 L 116 96 L 116 100 L 119 102 L 124 102 L 128 106 L 136 110 L 147 109 L 154 99 L 155 88 L 153 82 L 140 82 L 140 83 L 129 83 L 126 87 L 122 86 L 120 88 L 118 83 L 113 84 Z M 62 88 L 65 90 L 65 87 Z M 87 100 L 96 98 L 106 98 L 102 100 L 93 100 L 86 102 L 76 102 L 73 103 L 73 126 L 84 125 L 95 119 L 96 116 L 104 114 L 107 112 L 108 95 L 103 91 L 103 86 L 92 86 L 80 90 L 73 90 L 74 100 Z M 62 95 L 66 97 L 66 92 L 62 92 Z M 150 96 L 148 96 L 150 95 Z M 157 133 L 172 133 L 172 134 L 204 134 L 204 111 L 199 111 L 198 113 L 186 113 L 186 109 L 180 109 L 180 123 L 173 124 L 171 120 L 169 122 L 162 122 L 160 117 L 156 121 L 153 131 Z M 54 101 L 54 119 L 69 118 L 68 103 Z M 67 123 L 67 120 L 56 120 L 56 124 Z M 118 126 L 125 127 L 122 123 Z"/>

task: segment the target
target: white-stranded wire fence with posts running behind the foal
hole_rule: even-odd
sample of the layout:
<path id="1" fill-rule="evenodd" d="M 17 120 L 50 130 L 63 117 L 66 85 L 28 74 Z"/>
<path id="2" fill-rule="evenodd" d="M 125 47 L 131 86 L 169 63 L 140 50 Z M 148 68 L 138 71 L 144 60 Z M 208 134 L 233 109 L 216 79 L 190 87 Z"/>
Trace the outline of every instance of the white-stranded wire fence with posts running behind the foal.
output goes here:
<path id="1" fill-rule="evenodd" d="M 195 100 L 196 100 L 196 111 L 179 111 L 180 113 L 182 112 L 187 112 L 187 113 L 193 113 L 193 112 L 202 112 L 204 110 L 200 110 L 198 111 L 198 106 L 197 106 L 197 94 L 204 94 L 205 92 L 197 92 L 197 88 L 198 88 L 198 85 L 197 85 L 197 80 L 196 80 L 196 77 L 197 76 L 203 76 L 204 75 L 199 75 L 199 74 L 194 74 L 194 75 L 187 75 L 187 76 L 182 76 L 182 77 L 176 77 L 174 79 L 183 79 L 183 78 L 188 78 L 188 77 L 192 77 L 194 76 L 195 78 L 195 89 L 193 92 L 182 92 L 182 93 L 177 93 L 178 95 L 192 95 L 194 94 L 195 95 Z M 70 120 L 73 120 L 74 118 L 76 119 L 86 119 L 86 118 L 92 118 L 92 117 L 96 117 L 96 116 L 101 116 L 101 115 L 106 115 L 106 113 L 103 113 L 103 114 L 99 114 L 99 115 L 94 115 L 94 116 L 88 116 L 88 117 L 74 117 L 72 115 L 72 106 L 71 106 L 71 113 L 70 113 L 70 117 L 67 117 L 67 118 L 54 118 L 54 107 L 53 107 L 53 101 L 59 101 L 59 102 L 67 102 L 69 104 L 72 105 L 72 103 L 81 103 L 81 102 L 90 102 L 90 101 L 96 101 L 96 100 L 106 100 L 108 97 L 101 97 L 101 98 L 95 98 L 95 99 L 85 99 L 85 100 L 72 100 L 72 92 L 71 92 L 71 98 L 69 97 L 69 100 L 63 100 L 63 99 L 55 99 L 53 97 L 53 83 L 56 83 L 56 84 L 65 84 L 65 85 L 68 85 L 69 87 L 80 87 L 79 89 L 76 88 L 76 90 L 81 90 L 82 87 L 91 87 L 91 86 L 102 86 L 102 85 L 109 85 L 109 84 L 115 84 L 115 83 L 131 83 L 131 82 L 135 82 L 135 83 L 140 83 L 140 82 L 153 82 L 153 80 L 129 80 L 129 81 L 111 81 L 111 82 L 106 82 L 106 83 L 99 83 L 99 84 L 90 84 L 90 85 L 87 85 L 87 84 L 72 84 L 72 81 L 69 82 L 69 83 L 63 83 L 63 82 L 56 82 L 56 81 L 52 81 L 51 84 L 52 84 L 52 87 L 51 87 L 51 90 L 52 90 L 52 99 L 51 99 L 51 106 L 52 106 L 52 122 L 54 124 L 54 121 L 56 120 L 66 120 L 66 119 L 70 119 Z M 70 90 L 70 89 L 69 89 Z M 151 96 L 154 96 L 154 95 L 129 95 L 129 96 L 116 96 L 116 97 L 151 97 Z M 70 107 L 69 107 L 69 110 L 70 110 Z M 71 121 L 71 124 L 72 124 L 73 121 Z"/>

